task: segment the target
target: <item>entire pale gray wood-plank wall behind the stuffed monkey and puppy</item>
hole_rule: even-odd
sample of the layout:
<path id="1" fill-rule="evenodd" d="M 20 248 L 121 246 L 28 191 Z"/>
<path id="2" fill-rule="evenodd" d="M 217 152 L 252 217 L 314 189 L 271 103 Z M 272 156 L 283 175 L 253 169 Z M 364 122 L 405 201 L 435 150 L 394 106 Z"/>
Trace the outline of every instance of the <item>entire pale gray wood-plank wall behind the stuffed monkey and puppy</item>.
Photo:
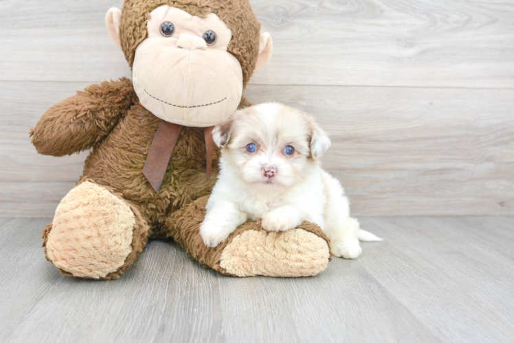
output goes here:
<path id="1" fill-rule="evenodd" d="M 121 3 L 0 2 L 0 215 L 50 216 L 80 176 L 87 152 L 39 156 L 27 132 L 130 75 L 104 28 Z M 317 117 L 353 213 L 514 214 L 514 1 L 252 3 L 275 51 L 246 94 Z"/>

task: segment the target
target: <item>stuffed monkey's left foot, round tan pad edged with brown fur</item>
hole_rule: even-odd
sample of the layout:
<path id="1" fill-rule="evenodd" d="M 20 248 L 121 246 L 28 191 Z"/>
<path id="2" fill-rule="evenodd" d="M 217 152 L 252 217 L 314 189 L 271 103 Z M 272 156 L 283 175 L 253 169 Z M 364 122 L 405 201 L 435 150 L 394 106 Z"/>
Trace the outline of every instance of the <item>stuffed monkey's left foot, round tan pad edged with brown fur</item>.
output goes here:
<path id="1" fill-rule="evenodd" d="M 63 274 L 118 279 L 142 252 L 147 233 L 134 206 L 86 180 L 60 201 L 43 231 L 43 246 L 48 261 Z"/>

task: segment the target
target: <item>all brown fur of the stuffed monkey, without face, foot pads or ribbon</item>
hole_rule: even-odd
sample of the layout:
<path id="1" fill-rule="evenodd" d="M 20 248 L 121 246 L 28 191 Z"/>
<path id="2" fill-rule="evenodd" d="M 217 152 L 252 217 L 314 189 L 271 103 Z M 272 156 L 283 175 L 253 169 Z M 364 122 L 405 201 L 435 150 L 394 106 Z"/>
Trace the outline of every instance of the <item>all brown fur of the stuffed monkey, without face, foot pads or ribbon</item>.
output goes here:
<path id="1" fill-rule="evenodd" d="M 149 13 L 163 4 L 193 15 L 218 14 L 232 29 L 229 51 L 241 62 L 243 82 L 248 82 L 258 56 L 260 24 L 247 0 L 125 1 L 120 38 L 129 64 L 133 63 L 137 45 L 146 38 Z M 240 108 L 249 105 L 243 97 Z M 89 86 L 56 104 L 30 132 L 41 154 L 63 156 L 92 147 L 79 182 L 88 180 L 109 189 L 135 214 L 133 252 L 117 272 L 103 279 L 118 278 L 134 263 L 148 239 L 158 237 L 174 238 L 192 258 L 226 274 L 219 265 L 223 248 L 245 230 L 262 230 L 260 224 L 246 223 L 217 248 L 203 244 L 199 223 L 205 214 L 205 196 L 216 180 L 219 152 L 214 152 L 213 177 L 206 180 L 205 141 L 199 128 L 184 128 L 181 132 L 161 189 L 158 193 L 153 191 L 142 169 L 160 120 L 139 105 L 131 80 L 122 78 Z M 302 228 L 327 240 L 314 224 Z M 43 231 L 43 246 L 50 230 L 52 224 Z"/>

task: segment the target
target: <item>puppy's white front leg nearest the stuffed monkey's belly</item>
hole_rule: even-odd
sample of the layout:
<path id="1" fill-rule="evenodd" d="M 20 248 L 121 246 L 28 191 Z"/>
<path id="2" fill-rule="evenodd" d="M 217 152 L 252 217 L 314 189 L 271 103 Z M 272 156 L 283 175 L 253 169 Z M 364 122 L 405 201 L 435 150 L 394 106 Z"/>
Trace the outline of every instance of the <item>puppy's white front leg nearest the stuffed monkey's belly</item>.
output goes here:
<path id="1" fill-rule="evenodd" d="M 218 246 L 246 221 L 246 213 L 241 212 L 234 202 L 216 202 L 200 225 L 203 243 L 210 248 Z"/>

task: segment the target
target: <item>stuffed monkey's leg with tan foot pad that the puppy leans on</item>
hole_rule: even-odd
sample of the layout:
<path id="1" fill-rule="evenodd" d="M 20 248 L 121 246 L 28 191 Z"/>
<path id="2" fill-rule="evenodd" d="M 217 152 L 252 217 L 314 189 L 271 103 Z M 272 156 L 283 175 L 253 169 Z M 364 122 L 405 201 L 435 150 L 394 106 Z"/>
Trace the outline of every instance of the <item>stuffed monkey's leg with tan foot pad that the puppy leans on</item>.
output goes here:
<path id="1" fill-rule="evenodd" d="M 208 197 L 200 198 L 172 214 L 166 222 L 173 237 L 195 260 L 232 276 L 313 276 L 326 269 L 330 259 L 328 237 L 315 224 L 269 233 L 260 222 L 239 226 L 216 248 L 200 236 Z"/>

